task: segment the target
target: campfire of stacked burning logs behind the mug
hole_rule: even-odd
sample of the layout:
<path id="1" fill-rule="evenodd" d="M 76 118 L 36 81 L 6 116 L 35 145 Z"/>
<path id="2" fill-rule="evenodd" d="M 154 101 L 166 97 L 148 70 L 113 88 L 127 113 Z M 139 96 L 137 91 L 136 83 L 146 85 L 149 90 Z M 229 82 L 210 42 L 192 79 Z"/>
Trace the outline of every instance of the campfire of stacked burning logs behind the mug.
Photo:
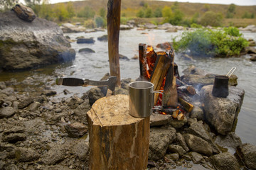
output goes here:
<path id="1" fill-rule="evenodd" d="M 168 53 L 155 52 L 151 45 L 139 44 L 139 71 L 139 79 L 153 83 L 154 91 L 164 90 L 164 97 L 155 94 L 154 105 L 162 106 L 156 113 L 183 120 L 184 115 L 193 110 L 191 101 L 198 94 L 193 86 L 180 80 L 173 49 Z"/>

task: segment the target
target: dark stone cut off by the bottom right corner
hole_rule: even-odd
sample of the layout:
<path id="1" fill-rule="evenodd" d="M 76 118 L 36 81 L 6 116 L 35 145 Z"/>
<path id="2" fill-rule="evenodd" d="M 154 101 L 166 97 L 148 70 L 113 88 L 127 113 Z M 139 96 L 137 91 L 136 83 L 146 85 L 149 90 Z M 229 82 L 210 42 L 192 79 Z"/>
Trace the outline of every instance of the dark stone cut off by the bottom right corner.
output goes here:
<path id="1" fill-rule="evenodd" d="M 256 169 L 256 146 L 248 143 L 236 148 L 236 153 L 248 169 Z"/>

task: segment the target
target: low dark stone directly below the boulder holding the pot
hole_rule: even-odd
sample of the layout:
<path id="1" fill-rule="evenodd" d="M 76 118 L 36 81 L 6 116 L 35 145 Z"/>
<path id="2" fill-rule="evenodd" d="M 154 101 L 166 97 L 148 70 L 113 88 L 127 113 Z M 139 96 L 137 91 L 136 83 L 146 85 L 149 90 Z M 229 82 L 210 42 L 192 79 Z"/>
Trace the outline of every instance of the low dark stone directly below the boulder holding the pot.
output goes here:
<path id="1" fill-rule="evenodd" d="M 218 135 L 215 137 L 214 142 L 220 147 L 231 147 L 233 149 L 242 144 L 240 137 L 238 137 L 235 132 L 229 132 L 228 135 L 225 136 Z"/>

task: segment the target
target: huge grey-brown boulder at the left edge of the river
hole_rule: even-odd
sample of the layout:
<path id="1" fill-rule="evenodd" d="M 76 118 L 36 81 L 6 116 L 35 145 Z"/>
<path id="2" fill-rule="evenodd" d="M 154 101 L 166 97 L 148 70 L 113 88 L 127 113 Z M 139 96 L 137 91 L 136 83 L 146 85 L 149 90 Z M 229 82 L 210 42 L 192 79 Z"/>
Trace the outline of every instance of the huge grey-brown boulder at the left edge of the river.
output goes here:
<path id="1" fill-rule="evenodd" d="M 0 69 L 30 69 L 75 59 L 75 50 L 56 23 L 35 18 L 29 23 L 14 11 L 0 13 Z"/>

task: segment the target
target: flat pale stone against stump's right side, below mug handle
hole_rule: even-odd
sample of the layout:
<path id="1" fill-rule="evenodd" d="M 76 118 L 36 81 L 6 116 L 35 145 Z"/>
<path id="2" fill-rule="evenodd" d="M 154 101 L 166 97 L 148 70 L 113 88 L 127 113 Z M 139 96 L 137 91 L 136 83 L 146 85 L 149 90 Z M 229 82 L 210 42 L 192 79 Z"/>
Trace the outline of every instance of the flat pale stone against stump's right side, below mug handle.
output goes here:
<path id="1" fill-rule="evenodd" d="M 157 113 L 152 113 L 150 115 L 150 127 L 167 125 L 171 120 L 171 115 L 161 115 Z"/>

